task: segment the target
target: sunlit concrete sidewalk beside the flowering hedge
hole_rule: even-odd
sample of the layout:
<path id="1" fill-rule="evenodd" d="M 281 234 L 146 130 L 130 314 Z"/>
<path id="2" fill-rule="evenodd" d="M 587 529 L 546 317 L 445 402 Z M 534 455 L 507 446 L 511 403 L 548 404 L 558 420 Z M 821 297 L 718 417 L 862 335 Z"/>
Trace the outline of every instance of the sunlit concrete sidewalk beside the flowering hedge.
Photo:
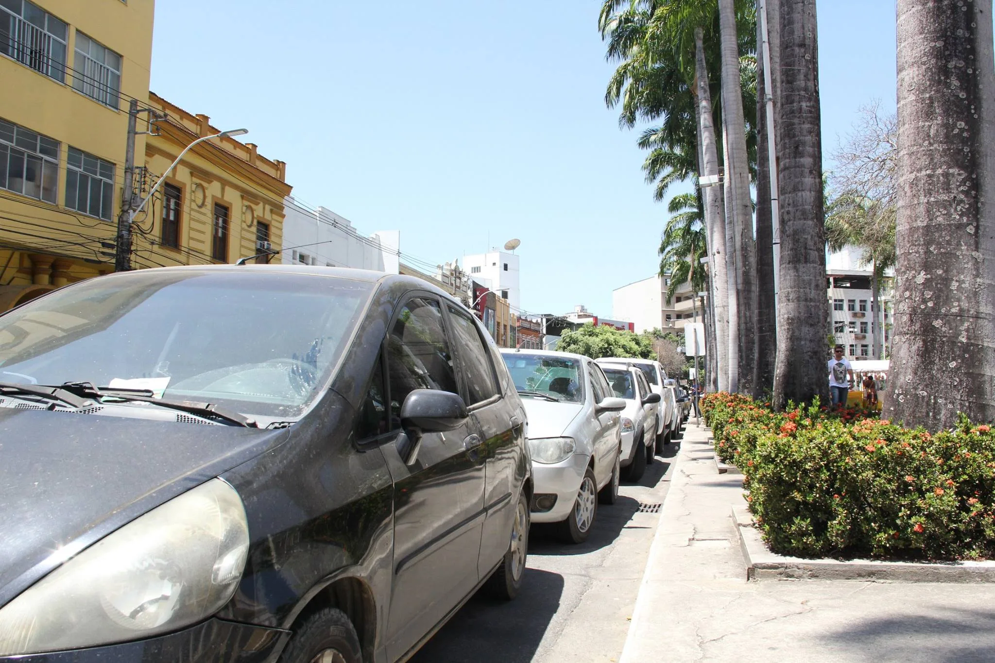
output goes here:
<path id="1" fill-rule="evenodd" d="M 689 423 L 621 663 L 995 661 L 991 584 L 747 581 L 742 477 L 706 440 Z"/>

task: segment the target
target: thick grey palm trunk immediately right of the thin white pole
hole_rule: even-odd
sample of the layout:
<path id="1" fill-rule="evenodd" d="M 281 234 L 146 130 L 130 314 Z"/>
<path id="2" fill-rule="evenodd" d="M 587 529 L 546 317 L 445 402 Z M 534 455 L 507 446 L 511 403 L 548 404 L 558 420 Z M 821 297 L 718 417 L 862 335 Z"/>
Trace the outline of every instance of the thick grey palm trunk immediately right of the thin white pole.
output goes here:
<path id="1" fill-rule="evenodd" d="M 819 46 L 815 0 L 780 4 L 780 95 L 776 125 L 781 203 L 774 404 L 824 401 L 826 238 L 822 206 Z"/>

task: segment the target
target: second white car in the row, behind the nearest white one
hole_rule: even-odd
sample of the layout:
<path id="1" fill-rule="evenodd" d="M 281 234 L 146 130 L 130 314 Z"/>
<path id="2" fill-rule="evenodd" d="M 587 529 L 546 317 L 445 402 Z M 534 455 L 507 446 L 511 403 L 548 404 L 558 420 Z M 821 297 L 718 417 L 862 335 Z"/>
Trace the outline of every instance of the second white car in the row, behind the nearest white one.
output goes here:
<path id="1" fill-rule="evenodd" d="M 660 395 L 654 394 L 643 372 L 632 364 L 596 360 L 615 396 L 626 402 L 622 411 L 622 469 L 629 481 L 639 481 L 655 451 Z M 647 445 L 647 435 L 650 444 Z"/>

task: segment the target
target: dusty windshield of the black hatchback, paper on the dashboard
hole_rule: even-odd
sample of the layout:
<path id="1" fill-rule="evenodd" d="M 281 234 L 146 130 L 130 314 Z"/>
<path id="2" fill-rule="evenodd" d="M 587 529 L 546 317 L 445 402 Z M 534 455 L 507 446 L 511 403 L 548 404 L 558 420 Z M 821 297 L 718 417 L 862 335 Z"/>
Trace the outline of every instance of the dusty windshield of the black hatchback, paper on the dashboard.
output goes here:
<path id="1" fill-rule="evenodd" d="M 0 382 L 149 389 L 292 418 L 330 378 L 373 288 L 248 270 L 82 281 L 0 316 Z"/>

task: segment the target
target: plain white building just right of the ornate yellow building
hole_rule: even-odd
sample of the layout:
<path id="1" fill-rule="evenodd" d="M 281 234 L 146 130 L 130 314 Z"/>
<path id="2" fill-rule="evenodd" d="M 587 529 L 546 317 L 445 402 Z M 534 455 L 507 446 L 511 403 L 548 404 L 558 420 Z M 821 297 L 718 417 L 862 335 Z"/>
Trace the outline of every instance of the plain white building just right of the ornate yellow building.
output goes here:
<path id="1" fill-rule="evenodd" d="M 284 200 L 284 264 L 318 264 L 399 273 L 400 231 L 369 237 L 327 208 L 311 210 L 288 196 Z M 261 249 L 262 250 L 262 249 Z"/>

